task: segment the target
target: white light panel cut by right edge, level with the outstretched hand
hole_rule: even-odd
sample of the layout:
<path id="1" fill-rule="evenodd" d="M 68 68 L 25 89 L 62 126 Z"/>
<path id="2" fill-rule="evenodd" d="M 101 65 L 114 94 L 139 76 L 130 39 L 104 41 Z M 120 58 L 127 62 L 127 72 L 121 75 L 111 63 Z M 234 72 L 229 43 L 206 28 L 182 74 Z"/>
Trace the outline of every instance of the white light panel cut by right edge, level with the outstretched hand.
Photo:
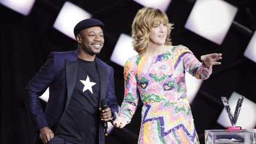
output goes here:
<path id="1" fill-rule="evenodd" d="M 248 59 L 251 59 L 252 61 L 256 62 L 256 32 L 254 32 L 254 35 L 252 36 L 251 40 L 249 41 L 247 49 L 244 52 L 244 56 L 246 56 L 246 57 L 248 57 Z"/>

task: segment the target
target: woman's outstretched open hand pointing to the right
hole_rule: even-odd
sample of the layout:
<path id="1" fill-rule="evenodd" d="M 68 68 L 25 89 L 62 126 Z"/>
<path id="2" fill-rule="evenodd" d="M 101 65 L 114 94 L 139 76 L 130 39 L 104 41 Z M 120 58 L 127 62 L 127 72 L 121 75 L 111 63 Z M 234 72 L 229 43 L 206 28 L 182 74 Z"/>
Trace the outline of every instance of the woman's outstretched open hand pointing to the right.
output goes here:
<path id="1" fill-rule="evenodd" d="M 203 55 L 201 56 L 201 60 L 203 61 L 203 65 L 206 68 L 210 68 L 212 65 L 220 65 L 220 62 L 217 62 L 217 60 L 222 59 L 222 53 L 212 53 L 209 55 Z"/>

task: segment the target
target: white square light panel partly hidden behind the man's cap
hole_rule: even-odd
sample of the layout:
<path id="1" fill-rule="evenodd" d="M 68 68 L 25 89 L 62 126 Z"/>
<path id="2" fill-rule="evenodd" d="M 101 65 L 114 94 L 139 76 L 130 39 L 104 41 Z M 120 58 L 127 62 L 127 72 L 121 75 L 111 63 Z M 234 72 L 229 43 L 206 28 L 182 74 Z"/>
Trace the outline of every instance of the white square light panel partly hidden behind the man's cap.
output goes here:
<path id="1" fill-rule="evenodd" d="M 86 18 L 91 18 L 91 14 L 71 2 L 65 2 L 53 27 L 75 40 L 73 28 Z"/>

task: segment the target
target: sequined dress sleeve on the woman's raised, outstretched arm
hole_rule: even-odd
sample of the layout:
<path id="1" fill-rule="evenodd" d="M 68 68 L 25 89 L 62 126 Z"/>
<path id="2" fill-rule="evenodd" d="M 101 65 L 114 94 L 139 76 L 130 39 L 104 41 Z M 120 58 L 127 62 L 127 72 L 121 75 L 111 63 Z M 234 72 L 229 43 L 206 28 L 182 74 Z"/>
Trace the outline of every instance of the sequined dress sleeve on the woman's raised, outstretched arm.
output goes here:
<path id="1" fill-rule="evenodd" d="M 205 68 L 204 65 L 199 62 L 199 60 L 194 56 L 194 54 L 187 48 L 183 46 L 183 65 L 185 71 L 190 73 L 197 79 L 207 79 L 212 74 L 212 66 L 210 68 Z"/>

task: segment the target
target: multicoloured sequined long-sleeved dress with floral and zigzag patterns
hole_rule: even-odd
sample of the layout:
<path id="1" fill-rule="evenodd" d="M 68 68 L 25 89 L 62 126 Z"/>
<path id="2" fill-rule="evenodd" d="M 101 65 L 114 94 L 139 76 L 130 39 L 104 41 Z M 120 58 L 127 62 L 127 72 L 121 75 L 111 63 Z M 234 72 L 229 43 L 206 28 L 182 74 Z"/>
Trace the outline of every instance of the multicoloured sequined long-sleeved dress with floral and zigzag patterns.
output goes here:
<path id="1" fill-rule="evenodd" d="M 134 56 L 124 66 L 120 117 L 130 123 L 143 102 L 138 143 L 199 143 L 185 87 L 185 71 L 199 79 L 212 73 L 185 46 L 153 57 Z"/>

